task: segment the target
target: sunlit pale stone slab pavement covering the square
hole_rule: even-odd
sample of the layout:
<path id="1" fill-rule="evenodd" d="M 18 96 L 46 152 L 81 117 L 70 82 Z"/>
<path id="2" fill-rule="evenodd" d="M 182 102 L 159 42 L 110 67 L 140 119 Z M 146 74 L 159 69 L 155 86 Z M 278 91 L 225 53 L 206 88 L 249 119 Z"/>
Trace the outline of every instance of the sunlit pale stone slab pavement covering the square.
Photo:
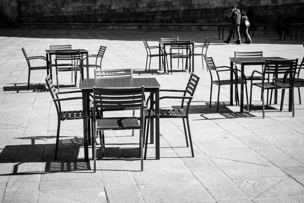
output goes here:
<path id="1" fill-rule="evenodd" d="M 92 54 L 100 45 L 107 46 L 103 69 L 132 67 L 135 77 L 155 77 L 162 88 L 184 89 L 188 73 L 157 74 L 156 58 L 151 74 L 144 72 L 142 39 L 158 45 L 161 37 L 195 42 L 212 38 L 208 56 L 218 66 L 229 65 L 234 51 L 261 50 L 264 56 L 301 60 L 304 50 L 302 38 L 279 41 L 259 31 L 253 44 L 226 45 L 217 31 L 0 29 L 1 202 L 304 202 L 304 105 L 299 105 L 297 91 L 294 118 L 285 96 L 283 111 L 272 105 L 263 119 L 257 89 L 254 111 L 239 114 L 239 107 L 229 106 L 229 87 L 222 87 L 216 112 L 217 87 L 209 108 L 210 76 L 200 57 L 195 59 L 195 73 L 201 79 L 190 110 L 194 158 L 185 147 L 181 120 L 164 119 L 160 160 L 154 159 L 154 145 L 149 144 L 140 172 L 138 151 L 133 150 L 138 132 L 134 137 L 127 130 L 108 132 L 105 158 L 97 161 L 94 174 L 92 160 L 84 162 L 82 121 L 74 120 L 62 122 L 54 160 L 57 115 L 44 81 L 46 71 L 32 71 L 27 91 L 21 48 L 33 56 L 45 55 L 51 44 L 71 44 Z M 70 73 L 60 73 L 59 79 L 66 89 L 78 89 L 71 85 Z M 176 105 L 174 100 L 161 103 Z M 64 107 L 81 109 L 82 104 L 68 102 Z"/>

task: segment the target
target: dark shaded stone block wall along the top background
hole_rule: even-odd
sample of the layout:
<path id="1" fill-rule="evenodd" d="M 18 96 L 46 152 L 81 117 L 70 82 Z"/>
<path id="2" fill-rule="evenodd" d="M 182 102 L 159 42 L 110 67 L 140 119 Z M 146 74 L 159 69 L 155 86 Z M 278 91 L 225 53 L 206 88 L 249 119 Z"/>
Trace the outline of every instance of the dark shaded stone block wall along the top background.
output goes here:
<path id="1" fill-rule="evenodd" d="M 0 0 L 19 23 L 226 23 L 230 7 L 254 12 L 254 22 L 304 19 L 304 0 Z"/>

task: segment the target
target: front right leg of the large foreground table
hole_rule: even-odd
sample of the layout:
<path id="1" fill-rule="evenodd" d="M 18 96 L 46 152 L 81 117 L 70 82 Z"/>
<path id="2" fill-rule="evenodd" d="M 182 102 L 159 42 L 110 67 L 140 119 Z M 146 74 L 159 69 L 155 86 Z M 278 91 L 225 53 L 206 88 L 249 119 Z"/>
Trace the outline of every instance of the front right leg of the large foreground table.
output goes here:
<path id="1" fill-rule="evenodd" d="M 155 92 L 155 156 L 160 159 L 160 89 Z"/>

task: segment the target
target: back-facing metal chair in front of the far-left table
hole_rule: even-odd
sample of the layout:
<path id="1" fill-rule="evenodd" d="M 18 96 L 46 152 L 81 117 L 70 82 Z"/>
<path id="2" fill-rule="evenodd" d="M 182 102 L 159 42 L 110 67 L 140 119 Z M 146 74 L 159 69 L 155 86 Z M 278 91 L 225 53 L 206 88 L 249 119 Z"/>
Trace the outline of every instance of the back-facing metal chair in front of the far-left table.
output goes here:
<path id="1" fill-rule="evenodd" d="M 65 61 L 80 61 L 79 65 L 66 63 Z M 82 81 L 82 56 L 80 50 L 56 50 L 55 51 L 55 66 L 56 66 L 56 79 L 57 79 L 57 88 L 59 91 L 59 79 L 58 72 L 67 72 L 67 71 L 80 71 L 80 83 Z M 77 74 L 75 74 L 75 85 L 77 80 Z"/>

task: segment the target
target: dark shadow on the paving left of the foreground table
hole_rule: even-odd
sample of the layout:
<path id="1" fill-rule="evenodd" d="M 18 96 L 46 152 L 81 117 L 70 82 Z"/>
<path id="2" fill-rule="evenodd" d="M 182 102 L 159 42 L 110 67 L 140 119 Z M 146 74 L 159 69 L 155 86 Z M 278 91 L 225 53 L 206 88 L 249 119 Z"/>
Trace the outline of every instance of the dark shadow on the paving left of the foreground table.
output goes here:
<path id="1" fill-rule="evenodd" d="M 91 170 L 90 162 L 78 158 L 83 139 L 74 137 L 59 142 L 57 160 L 54 159 L 55 144 L 35 144 L 35 140 L 54 139 L 55 136 L 36 136 L 16 139 L 30 139 L 29 145 L 7 145 L 1 149 L 0 163 L 13 163 L 13 171 L 0 176 L 46 174 Z M 45 163 L 44 171 L 18 172 L 23 163 Z"/>

